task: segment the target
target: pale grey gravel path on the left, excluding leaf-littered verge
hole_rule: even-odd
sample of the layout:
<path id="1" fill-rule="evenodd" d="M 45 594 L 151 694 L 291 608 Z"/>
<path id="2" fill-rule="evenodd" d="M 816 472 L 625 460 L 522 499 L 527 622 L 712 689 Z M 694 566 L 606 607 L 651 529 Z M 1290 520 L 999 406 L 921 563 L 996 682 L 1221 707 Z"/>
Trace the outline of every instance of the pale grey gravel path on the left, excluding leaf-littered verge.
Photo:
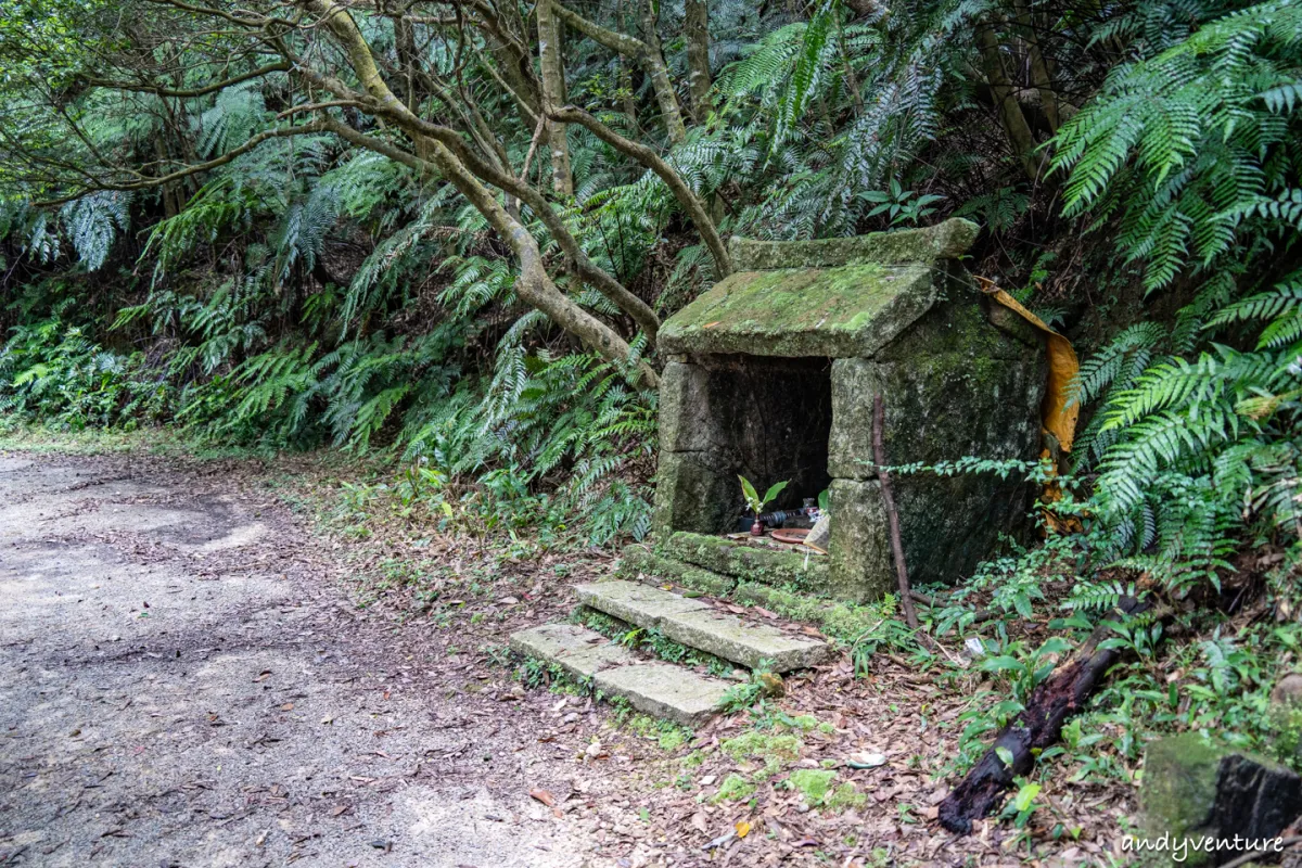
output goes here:
<path id="1" fill-rule="evenodd" d="M 613 864 L 518 727 L 203 472 L 0 455 L 0 864 Z"/>

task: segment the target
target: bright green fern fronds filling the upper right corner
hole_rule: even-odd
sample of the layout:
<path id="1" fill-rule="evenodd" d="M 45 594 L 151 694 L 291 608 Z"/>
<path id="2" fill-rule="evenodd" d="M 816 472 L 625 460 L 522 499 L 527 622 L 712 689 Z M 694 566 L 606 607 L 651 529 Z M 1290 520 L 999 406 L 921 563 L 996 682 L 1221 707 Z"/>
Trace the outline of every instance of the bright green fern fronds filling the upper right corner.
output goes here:
<path id="1" fill-rule="evenodd" d="M 1245 229 L 1292 226 L 1299 61 L 1302 13 L 1271 1 L 1120 68 L 1057 135 L 1066 213 L 1116 216 L 1116 245 L 1147 264 L 1150 290 L 1189 262 L 1210 267 Z"/>

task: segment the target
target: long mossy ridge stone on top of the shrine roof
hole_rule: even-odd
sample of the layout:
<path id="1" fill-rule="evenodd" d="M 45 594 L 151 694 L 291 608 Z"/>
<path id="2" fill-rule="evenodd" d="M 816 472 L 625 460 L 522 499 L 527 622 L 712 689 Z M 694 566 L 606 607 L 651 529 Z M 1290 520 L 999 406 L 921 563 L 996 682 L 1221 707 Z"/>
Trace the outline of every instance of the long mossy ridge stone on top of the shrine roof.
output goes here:
<path id="1" fill-rule="evenodd" d="M 728 245 L 733 264 L 742 271 L 772 268 L 825 268 L 855 263 L 930 263 L 967 252 L 980 226 L 962 219 L 935 226 L 874 232 L 854 238 L 820 241 L 751 241 L 733 238 Z"/>

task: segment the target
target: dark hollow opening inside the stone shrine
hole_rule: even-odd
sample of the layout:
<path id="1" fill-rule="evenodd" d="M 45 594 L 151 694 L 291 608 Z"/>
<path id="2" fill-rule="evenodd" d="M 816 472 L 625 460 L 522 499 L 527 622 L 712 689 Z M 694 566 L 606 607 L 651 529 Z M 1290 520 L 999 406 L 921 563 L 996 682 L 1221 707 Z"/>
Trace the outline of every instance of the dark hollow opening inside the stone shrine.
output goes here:
<path id="1" fill-rule="evenodd" d="M 766 510 L 794 509 L 832 484 L 832 362 L 824 358 L 702 355 L 708 375 L 710 427 L 720 467 L 749 479 L 760 495 L 779 481 L 786 488 Z M 741 484 L 734 513 L 746 511 Z"/>

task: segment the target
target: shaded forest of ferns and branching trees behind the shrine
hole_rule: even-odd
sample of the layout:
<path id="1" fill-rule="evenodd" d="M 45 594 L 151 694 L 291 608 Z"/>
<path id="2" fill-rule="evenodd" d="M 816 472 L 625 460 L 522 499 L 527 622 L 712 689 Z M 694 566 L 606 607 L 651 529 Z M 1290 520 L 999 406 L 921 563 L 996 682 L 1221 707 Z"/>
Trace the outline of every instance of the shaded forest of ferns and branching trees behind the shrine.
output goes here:
<path id="1" fill-rule="evenodd" d="M 727 237 L 979 223 L 1085 422 L 1079 530 L 966 590 L 1197 609 L 1189 694 L 1126 638 L 1128 720 L 1268 737 L 1302 643 L 1288 0 L 17 0 L 0 61 L 7 420 L 379 453 L 424 521 L 546 545 L 647 532 L 655 332 Z"/>

